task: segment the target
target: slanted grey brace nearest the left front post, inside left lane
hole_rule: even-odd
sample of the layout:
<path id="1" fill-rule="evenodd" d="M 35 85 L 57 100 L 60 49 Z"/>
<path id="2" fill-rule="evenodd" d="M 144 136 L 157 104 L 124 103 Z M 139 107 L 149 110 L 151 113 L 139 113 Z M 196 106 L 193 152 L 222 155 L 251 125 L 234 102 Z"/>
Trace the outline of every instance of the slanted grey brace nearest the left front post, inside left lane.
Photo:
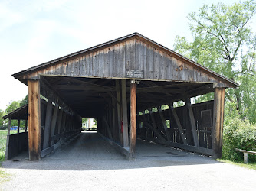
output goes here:
<path id="1" fill-rule="evenodd" d="M 51 100 L 51 98 L 48 98 L 48 102 L 47 102 L 47 106 L 46 106 L 46 115 L 45 115 L 43 149 L 46 149 L 49 146 L 49 138 L 50 138 L 50 132 L 51 132 L 52 108 L 53 108 L 52 100 Z"/>

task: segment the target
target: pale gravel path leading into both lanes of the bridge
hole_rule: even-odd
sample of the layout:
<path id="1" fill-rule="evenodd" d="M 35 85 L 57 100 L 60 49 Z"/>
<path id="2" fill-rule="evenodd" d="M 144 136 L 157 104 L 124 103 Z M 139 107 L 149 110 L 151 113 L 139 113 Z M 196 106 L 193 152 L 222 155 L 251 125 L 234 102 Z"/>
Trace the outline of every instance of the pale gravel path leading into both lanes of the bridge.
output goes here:
<path id="1" fill-rule="evenodd" d="M 255 190 L 256 170 L 137 141 L 127 161 L 99 135 L 81 134 L 41 161 L 5 161 L 1 190 Z"/>

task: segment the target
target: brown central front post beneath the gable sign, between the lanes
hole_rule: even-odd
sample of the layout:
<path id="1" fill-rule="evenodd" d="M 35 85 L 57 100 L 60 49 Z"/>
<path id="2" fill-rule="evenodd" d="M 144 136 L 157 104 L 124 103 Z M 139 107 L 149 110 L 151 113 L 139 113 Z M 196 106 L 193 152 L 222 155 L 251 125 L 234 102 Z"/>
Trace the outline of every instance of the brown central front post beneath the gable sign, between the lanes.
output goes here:
<path id="1" fill-rule="evenodd" d="M 129 160 L 136 158 L 136 82 L 130 83 L 130 156 Z"/>

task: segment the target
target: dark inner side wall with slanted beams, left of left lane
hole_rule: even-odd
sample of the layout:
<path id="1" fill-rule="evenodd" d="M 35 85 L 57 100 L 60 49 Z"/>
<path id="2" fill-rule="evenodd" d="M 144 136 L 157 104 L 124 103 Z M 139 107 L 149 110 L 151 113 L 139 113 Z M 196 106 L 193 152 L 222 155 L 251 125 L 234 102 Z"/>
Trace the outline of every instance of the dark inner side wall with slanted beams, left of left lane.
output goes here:
<path id="1" fill-rule="evenodd" d="M 82 118 L 41 78 L 41 157 L 81 132 Z"/>

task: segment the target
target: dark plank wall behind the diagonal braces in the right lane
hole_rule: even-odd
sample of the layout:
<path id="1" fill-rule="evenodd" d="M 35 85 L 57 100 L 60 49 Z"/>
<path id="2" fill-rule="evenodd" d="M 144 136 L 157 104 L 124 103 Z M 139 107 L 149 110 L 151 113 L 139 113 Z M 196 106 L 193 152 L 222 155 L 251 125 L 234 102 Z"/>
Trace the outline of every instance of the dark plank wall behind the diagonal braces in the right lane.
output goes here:
<path id="1" fill-rule="evenodd" d="M 196 134 L 199 140 L 199 147 L 212 149 L 212 125 L 213 125 L 213 106 L 214 102 L 202 102 L 199 104 L 192 105 L 192 112 L 195 117 L 195 125 L 196 125 Z M 182 106 L 179 108 L 175 108 L 176 114 L 178 115 L 179 121 L 182 126 L 182 131 L 185 133 L 185 139 L 189 146 L 195 146 L 192 140 L 192 127 L 191 122 L 189 121 L 189 110 L 186 106 Z M 208 120 L 208 126 L 202 125 L 202 111 L 209 111 L 210 115 Z M 153 115 L 153 116 L 150 116 Z M 169 120 L 170 128 L 168 128 L 170 141 L 173 143 L 183 144 L 182 136 L 179 132 L 179 127 L 175 121 L 173 115 L 170 115 L 169 109 L 163 110 L 162 115 L 164 121 Z M 162 125 L 162 120 L 160 118 L 159 112 L 152 112 L 151 114 L 144 114 L 144 115 L 137 115 L 137 136 L 138 138 L 143 138 L 149 141 L 168 141 L 166 136 L 164 127 Z M 154 120 L 152 120 L 154 119 Z M 156 125 L 156 131 L 159 131 L 161 134 L 161 139 L 157 134 L 156 131 L 154 132 L 149 125 L 154 126 Z"/>

